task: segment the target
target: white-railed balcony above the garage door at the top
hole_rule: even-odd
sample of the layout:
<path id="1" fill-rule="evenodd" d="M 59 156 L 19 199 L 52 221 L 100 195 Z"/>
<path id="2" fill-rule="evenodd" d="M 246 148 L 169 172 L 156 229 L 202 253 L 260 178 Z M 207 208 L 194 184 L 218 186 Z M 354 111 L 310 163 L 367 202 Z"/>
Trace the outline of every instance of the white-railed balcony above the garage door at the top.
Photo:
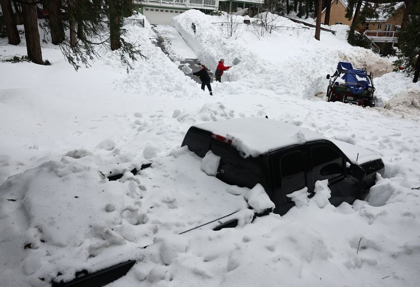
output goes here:
<path id="1" fill-rule="evenodd" d="M 142 0 L 135 2 L 143 5 L 172 8 L 197 8 L 207 10 L 217 10 L 219 8 L 219 0 Z"/>

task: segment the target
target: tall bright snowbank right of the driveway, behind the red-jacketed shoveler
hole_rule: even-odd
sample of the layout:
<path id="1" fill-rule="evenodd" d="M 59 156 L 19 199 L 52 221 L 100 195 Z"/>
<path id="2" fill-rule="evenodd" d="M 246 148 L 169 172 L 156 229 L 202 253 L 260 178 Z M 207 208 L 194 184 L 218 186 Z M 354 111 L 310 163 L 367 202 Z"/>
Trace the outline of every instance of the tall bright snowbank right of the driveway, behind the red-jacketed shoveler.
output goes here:
<path id="1" fill-rule="evenodd" d="M 235 16 L 234 22 L 241 23 L 243 20 L 244 17 Z M 252 30 L 252 25 L 238 25 L 237 39 L 223 38 L 226 22 L 226 16 L 223 15 L 203 16 L 197 10 L 189 10 L 174 17 L 172 24 L 202 63 L 210 69 L 215 69 L 221 58 L 225 59 L 227 66 L 236 57 L 241 60 L 238 66 L 233 66 L 222 77 L 224 81 L 230 82 L 226 87 L 229 93 L 236 94 L 246 89 L 264 87 L 279 95 L 312 99 L 315 95 L 325 93 L 325 75 L 334 73 L 340 61 L 367 67 L 374 76 L 385 73 L 387 68 L 391 70 L 388 59 L 380 58 L 370 50 L 352 47 L 325 31 L 321 31 L 322 41 L 318 42 L 314 38 L 313 30 L 302 28 L 302 24 L 283 17 L 274 21 L 280 28 L 272 34 L 266 32 L 266 36 L 259 39 L 255 37 L 255 33 L 246 31 Z M 196 25 L 195 34 L 191 23 Z M 338 32 L 344 33 L 341 30 Z M 278 53 L 279 46 L 282 47 L 282 53 Z M 297 51 L 296 46 L 299 46 Z M 339 50 L 337 46 L 340 47 Z M 319 66 L 317 63 L 323 65 Z"/>

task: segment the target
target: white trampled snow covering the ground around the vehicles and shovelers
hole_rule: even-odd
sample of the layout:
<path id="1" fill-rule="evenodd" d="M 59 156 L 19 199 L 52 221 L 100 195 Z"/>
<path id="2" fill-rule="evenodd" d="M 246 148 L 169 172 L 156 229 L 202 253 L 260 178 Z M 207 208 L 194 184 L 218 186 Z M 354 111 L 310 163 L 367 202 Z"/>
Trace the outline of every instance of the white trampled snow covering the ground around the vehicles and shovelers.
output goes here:
<path id="1" fill-rule="evenodd" d="M 172 55 L 213 69 L 241 59 L 212 83 L 213 97 L 155 46 L 148 23 L 126 27 L 149 56 L 128 74 L 105 51 L 75 72 L 50 44 L 52 66 L 0 63 L 0 286 L 46 286 L 59 272 L 71 279 L 127 259 L 139 262 L 111 286 L 418 285 L 420 84 L 346 44 L 345 26 L 320 42 L 291 28 L 258 40 L 246 25 L 228 39 L 213 24 L 222 21 L 190 10 L 173 22 L 186 42 L 171 41 Z M 1 46 L 1 58 L 15 54 L 24 43 Z M 387 109 L 325 101 L 325 75 L 343 60 L 373 71 Z M 369 202 L 313 200 L 283 217 L 249 224 L 244 212 L 234 229 L 177 235 L 246 205 L 179 148 L 189 126 L 265 115 L 378 152 L 385 172 Z"/>

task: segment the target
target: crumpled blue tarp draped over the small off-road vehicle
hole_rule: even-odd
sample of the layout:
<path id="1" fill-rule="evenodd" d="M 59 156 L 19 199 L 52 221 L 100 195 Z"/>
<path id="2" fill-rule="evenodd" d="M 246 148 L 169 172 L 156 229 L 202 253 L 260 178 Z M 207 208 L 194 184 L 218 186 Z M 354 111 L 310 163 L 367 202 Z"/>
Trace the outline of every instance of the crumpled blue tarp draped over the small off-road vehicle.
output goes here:
<path id="1" fill-rule="evenodd" d="M 359 94 L 363 90 L 369 88 L 370 81 L 364 70 L 355 69 L 351 63 L 339 62 L 337 65 L 338 72 L 344 73 L 341 77 L 352 93 Z"/>

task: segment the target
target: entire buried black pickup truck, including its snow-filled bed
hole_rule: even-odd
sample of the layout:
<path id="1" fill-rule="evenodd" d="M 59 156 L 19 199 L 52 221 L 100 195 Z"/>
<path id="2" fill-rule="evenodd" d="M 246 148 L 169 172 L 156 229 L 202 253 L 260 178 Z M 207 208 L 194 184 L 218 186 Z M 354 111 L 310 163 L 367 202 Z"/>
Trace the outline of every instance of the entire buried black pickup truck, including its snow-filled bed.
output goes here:
<path id="1" fill-rule="evenodd" d="M 143 239 L 153 239 L 147 243 L 152 244 L 156 236 L 165 233 L 242 226 L 252 222 L 255 215 L 272 210 L 283 215 L 294 206 L 293 199 L 298 200 L 294 195 L 308 192 L 308 197 L 314 196 L 315 182 L 320 180 L 323 186 L 328 180 L 332 204 L 353 203 L 375 184 L 377 172 L 384 168 L 380 157 L 372 152 L 266 118 L 197 124 L 189 128 L 182 147 L 169 156 L 157 157 L 151 165 L 137 169 L 118 166 L 124 175 L 108 172 L 110 181 L 104 178 L 96 189 L 121 189 L 129 182 L 126 193 L 133 199 L 111 197 L 115 211 L 104 216 L 123 210 L 125 216 L 119 221 L 125 223 L 107 230 L 126 243 L 125 248 L 132 246 L 134 250 L 142 246 Z M 144 191 L 138 194 L 140 181 Z M 130 204 L 125 206 L 125 202 Z M 139 214 L 135 202 L 142 203 L 147 212 Z M 97 204 L 91 205 L 98 210 Z M 98 255 L 96 260 L 104 256 Z M 130 259 L 93 273 L 82 270 L 80 277 L 67 282 L 58 276 L 53 287 L 104 286 L 124 276 L 135 262 Z"/>

